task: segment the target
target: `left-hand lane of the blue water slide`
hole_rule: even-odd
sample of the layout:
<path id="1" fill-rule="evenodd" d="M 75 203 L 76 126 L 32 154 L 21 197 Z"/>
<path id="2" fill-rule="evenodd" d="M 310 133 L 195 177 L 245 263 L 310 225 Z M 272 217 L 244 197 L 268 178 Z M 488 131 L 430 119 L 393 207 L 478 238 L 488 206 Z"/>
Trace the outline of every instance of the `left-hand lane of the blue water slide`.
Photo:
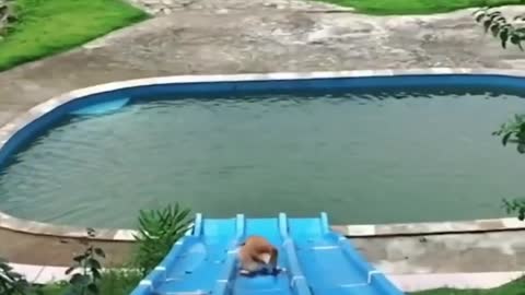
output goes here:
<path id="1" fill-rule="evenodd" d="M 234 250 L 242 238 L 243 227 L 243 215 L 203 220 L 197 214 L 192 233 L 177 241 L 131 294 L 197 295 L 221 290 L 223 276 L 234 270 Z"/>

